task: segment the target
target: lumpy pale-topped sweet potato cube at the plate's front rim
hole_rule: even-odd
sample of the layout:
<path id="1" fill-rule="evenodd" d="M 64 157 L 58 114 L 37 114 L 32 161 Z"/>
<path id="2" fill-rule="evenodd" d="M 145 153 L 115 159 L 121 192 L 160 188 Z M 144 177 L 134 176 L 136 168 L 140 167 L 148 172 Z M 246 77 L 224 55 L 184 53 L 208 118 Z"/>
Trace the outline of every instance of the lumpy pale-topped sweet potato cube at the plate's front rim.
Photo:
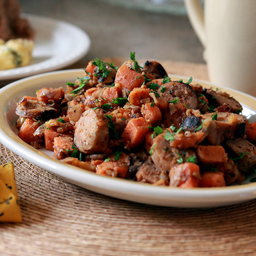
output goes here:
<path id="1" fill-rule="evenodd" d="M 196 164 L 186 162 L 171 168 L 169 177 L 172 186 L 199 187 L 200 168 Z"/>

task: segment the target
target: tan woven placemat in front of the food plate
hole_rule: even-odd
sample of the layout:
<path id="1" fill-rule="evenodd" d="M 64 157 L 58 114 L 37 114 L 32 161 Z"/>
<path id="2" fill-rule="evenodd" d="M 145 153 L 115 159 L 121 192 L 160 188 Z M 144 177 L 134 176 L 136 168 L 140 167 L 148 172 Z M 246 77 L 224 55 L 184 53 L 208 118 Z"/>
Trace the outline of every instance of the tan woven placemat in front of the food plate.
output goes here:
<path id="1" fill-rule="evenodd" d="M 0 144 L 22 223 L 1 223 L 0 255 L 255 255 L 256 200 L 213 209 L 122 201 L 70 184 Z"/>

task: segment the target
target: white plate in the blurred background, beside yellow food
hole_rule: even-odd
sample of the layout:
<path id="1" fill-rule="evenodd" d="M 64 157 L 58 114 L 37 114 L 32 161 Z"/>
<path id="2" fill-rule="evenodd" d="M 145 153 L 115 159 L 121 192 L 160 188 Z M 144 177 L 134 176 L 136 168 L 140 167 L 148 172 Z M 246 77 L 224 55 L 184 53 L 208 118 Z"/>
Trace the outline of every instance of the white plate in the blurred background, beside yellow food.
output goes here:
<path id="1" fill-rule="evenodd" d="M 13 80 L 67 67 L 90 48 L 90 38 L 81 28 L 65 21 L 24 15 L 35 30 L 33 61 L 26 67 L 1 70 L 1 80 Z"/>

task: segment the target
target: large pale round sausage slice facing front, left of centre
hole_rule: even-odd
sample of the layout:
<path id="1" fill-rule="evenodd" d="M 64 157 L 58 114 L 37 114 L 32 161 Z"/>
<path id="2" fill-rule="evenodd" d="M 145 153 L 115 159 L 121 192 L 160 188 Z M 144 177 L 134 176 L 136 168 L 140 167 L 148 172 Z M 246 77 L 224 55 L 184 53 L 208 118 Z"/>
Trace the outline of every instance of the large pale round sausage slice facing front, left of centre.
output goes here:
<path id="1" fill-rule="evenodd" d="M 108 119 L 102 109 L 87 109 L 77 122 L 74 143 L 83 153 L 101 153 L 108 146 Z"/>

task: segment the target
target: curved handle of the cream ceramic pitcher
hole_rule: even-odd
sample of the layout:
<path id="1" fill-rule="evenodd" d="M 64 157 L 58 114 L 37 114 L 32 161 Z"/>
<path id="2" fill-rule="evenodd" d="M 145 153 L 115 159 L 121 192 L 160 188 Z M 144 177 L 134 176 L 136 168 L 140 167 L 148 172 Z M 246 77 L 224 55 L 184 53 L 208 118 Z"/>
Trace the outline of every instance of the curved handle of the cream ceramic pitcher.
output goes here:
<path id="1" fill-rule="evenodd" d="M 188 19 L 195 30 L 201 44 L 206 46 L 204 11 L 200 0 L 185 0 Z"/>

